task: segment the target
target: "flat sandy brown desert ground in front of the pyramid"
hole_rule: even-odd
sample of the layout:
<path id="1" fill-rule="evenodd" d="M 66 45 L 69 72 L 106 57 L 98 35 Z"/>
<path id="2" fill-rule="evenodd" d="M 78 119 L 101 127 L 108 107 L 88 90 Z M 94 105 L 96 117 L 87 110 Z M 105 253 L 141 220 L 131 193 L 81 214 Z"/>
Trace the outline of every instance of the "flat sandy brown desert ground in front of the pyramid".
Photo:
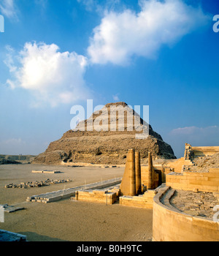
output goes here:
<path id="1" fill-rule="evenodd" d="M 31 173 L 31 170 L 60 170 L 61 173 Z M 0 204 L 25 207 L 4 213 L 0 229 L 26 235 L 28 241 L 151 241 L 152 210 L 69 199 L 47 204 L 26 202 L 26 197 L 31 195 L 118 178 L 123 172 L 124 167 L 0 165 Z M 4 187 L 9 183 L 47 178 L 71 181 L 27 189 Z"/>

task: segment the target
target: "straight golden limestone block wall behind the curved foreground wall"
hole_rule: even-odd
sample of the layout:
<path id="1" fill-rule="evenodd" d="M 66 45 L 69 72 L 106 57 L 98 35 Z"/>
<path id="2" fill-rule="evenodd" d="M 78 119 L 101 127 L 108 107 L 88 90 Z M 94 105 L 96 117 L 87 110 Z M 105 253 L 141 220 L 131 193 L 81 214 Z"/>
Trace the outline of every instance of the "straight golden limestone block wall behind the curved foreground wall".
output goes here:
<path id="1" fill-rule="evenodd" d="M 166 175 L 166 186 L 174 189 L 219 192 L 219 168 L 210 168 L 209 173 L 184 172 Z"/>

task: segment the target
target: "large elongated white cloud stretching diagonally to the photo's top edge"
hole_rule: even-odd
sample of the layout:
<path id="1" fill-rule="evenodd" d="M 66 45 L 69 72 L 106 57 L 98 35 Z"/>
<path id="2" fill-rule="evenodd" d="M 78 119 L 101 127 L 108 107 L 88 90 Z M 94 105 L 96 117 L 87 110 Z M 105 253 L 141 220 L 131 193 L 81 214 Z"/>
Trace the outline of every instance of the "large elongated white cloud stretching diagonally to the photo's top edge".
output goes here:
<path id="1" fill-rule="evenodd" d="M 172 45 L 204 26 L 210 17 L 182 0 L 142 0 L 141 11 L 105 12 L 93 29 L 88 56 L 94 64 L 128 64 L 132 56 L 155 58 L 161 45 Z"/>

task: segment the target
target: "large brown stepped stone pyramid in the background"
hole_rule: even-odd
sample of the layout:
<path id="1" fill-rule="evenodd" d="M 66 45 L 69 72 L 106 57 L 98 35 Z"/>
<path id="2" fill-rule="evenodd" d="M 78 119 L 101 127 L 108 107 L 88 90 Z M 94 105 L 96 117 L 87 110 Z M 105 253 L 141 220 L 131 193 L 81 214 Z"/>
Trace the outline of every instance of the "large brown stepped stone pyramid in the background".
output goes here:
<path id="1" fill-rule="evenodd" d="M 111 116 L 112 108 L 116 113 L 114 117 Z M 139 119 L 139 123 L 136 119 Z M 98 131 L 96 127 L 99 127 Z M 149 132 L 147 138 L 137 139 L 136 135 L 142 134 L 139 127 Z M 66 132 L 61 139 L 50 143 L 33 163 L 124 165 L 127 148 L 137 148 L 142 163 L 144 160 L 147 162 L 149 151 L 154 159 L 176 158 L 171 146 L 164 142 L 161 135 L 153 131 L 125 102 L 117 102 L 105 105 L 90 118 L 81 121 L 74 130 Z"/>

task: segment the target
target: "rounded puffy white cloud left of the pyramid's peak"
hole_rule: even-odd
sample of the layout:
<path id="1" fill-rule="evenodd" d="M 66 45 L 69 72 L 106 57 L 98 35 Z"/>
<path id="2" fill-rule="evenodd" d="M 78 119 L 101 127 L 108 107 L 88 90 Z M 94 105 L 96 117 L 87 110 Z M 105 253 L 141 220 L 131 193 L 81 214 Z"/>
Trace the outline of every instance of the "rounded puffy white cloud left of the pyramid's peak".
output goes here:
<path id="1" fill-rule="evenodd" d="M 14 76 L 7 80 L 9 86 L 31 91 L 37 99 L 36 106 L 41 102 L 55 106 L 88 97 L 83 78 L 87 59 L 74 52 L 61 53 L 55 44 L 27 42 L 16 57 L 9 48 L 5 64 Z"/>

